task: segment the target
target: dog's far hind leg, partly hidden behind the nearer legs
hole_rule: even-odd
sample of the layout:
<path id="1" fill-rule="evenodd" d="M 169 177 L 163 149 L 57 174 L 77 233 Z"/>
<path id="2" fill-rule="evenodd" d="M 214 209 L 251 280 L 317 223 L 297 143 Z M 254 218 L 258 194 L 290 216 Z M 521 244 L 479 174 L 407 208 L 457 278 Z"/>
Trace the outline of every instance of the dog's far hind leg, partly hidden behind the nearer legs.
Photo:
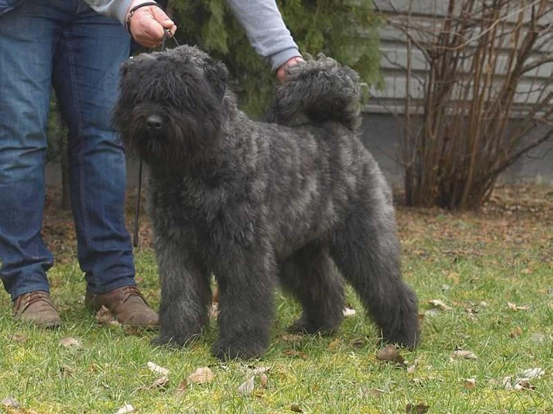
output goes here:
<path id="1" fill-rule="evenodd" d="M 306 246 L 281 263 L 283 288 L 296 297 L 303 313 L 291 332 L 332 333 L 344 319 L 343 281 L 319 244 Z"/>

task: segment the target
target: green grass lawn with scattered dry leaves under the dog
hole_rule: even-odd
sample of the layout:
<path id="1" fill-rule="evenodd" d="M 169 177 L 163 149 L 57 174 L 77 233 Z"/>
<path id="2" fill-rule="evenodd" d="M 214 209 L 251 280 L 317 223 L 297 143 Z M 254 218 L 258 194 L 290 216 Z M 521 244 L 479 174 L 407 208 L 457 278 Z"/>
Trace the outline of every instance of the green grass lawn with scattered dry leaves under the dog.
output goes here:
<path id="1" fill-rule="evenodd" d="M 553 413 L 551 189 L 501 188 L 472 214 L 398 208 L 404 279 L 418 293 L 422 324 L 421 346 L 400 350 L 401 365 L 377 359 L 375 326 L 351 290 L 348 304 L 357 312 L 332 337 L 283 336 L 300 309 L 279 293 L 270 348 L 255 361 L 223 364 L 210 355 L 214 319 L 181 351 L 152 348 L 153 333 L 102 326 L 84 310 L 69 215 L 57 211 L 57 199 L 48 201 L 44 235 L 59 259 L 50 283 L 65 325 L 45 332 L 17 324 L 8 295 L 0 295 L 0 400 L 19 403 L 0 404 L 0 412 L 115 413 L 127 403 L 139 413 L 405 413 L 407 404 L 424 404 L 429 413 Z M 148 238 L 142 219 L 138 280 L 157 307 Z M 428 312 L 431 299 L 451 310 Z M 81 346 L 62 346 L 66 337 Z M 452 357 L 460 349 L 478 359 Z M 153 385 L 161 375 L 147 362 L 169 369 L 165 386 Z M 212 380 L 186 384 L 204 366 Z M 241 395 L 238 386 L 253 366 L 270 368 L 267 382 L 256 375 L 253 391 Z M 538 367 L 545 373 L 522 382 L 523 389 L 502 383 L 511 377 L 514 386 Z"/>

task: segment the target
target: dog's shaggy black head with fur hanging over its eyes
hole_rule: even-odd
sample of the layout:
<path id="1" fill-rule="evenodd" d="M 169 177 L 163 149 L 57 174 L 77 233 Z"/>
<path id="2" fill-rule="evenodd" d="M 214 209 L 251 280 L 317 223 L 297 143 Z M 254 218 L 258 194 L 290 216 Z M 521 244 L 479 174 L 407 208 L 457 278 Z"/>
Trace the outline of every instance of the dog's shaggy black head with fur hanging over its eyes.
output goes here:
<path id="1" fill-rule="evenodd" d="M 227 68 L 191 46 L 139 55 L 121 69 L 113 124 L 147 163 L 181 164 L 220 137 Z"/>

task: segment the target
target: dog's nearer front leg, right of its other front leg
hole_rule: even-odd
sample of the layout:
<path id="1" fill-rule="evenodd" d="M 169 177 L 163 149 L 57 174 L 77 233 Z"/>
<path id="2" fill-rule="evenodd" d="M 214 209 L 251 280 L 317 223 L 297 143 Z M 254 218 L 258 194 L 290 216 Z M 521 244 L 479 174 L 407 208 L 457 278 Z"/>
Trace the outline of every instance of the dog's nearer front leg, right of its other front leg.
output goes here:
<path id="1" fill-rule="evenodd" d="M 237 252 L 216 270 L 219 285 L 220 359 L 252 358 L 265 353 L 272 326 L 275 266 L 269 255 Z"/>

